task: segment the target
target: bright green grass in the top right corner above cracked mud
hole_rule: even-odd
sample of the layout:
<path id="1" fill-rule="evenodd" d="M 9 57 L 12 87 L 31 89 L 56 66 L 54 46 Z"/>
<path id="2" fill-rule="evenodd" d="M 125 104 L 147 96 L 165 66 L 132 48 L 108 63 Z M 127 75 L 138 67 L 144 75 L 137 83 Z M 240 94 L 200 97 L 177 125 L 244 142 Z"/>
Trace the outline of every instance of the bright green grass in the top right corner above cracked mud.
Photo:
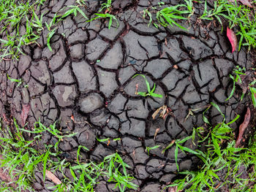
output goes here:
<path id="1" fill-rule="evenodd" d="M 178 26 L 179 28 L 187 30 L 187 28 L 184 28 L 184 26 L 178 24 L 177 20 L 189 20 L 189 18 L 195 12 L 195 2 L 204 4 L 203 15 L 199 15 L 198 20 L 216 19 L 221 24 L 222 29 L 225 22 L 228 23 L 229 28 L 236 29 L 236 35 L 240 37 L 238 43 L 238 50 L 241 49 L 241 46 L 247 46 L 249 50 L 256 47 L 255 8 L 247 7 L 240 2 L 238 3 L 237 0 L 214 1 L 214 7 L 212 9 L 208 7 L 206 0 L 184 0 L 183 4 L 180 3 L 176 6 L 165 7 L 157 12 L 155 11 L 157 7 L 149 7 L 147 9 L 144 9 L 143 18 L 146 18 L 146 15 L 148 15 L 148 26 L 153 23 L 154 26 L 157 28 L 159 27 L 159 25 L 164 27 Z M 158 7 L 162 7 L 163 4 L 165 3 L 160 1 Z M 256 4 L 256 1 L 251 1 L 251 4 Z M 154 18 L 156 18 L 157 22 L 154 22 Z"/>

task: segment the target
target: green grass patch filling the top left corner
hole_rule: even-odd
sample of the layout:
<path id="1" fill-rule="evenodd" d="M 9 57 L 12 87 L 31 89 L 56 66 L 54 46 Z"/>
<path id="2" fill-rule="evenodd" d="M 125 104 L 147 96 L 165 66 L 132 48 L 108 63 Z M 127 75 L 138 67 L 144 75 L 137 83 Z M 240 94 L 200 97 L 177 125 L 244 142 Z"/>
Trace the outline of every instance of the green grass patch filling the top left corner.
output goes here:
<path id="1" fill-rule="evenodd" d="M 5 33 L 5 37 L 0 39 L 0 61 L 6 58 L 17 59 L 23 53 L 23 46 L 37 43 L 37 39 L 41 37 L 42 30 L 46 26 L 48 28 L 47 45 L 49 50 L 50 39 L 55 34 L 57 27 L 51 28 L 68 15 L 77 15 L 80 12 L 84 18 L 88 19 L 84 12 L 79 8 L 81 4 L 75 6 L 67 6 L 63 15 L 54 15 L 50 23 L 42 23 L 44 13 L 37 15 L 37 10 L 44 4 L 46 0 L 37 1 L 15 1 L 7 0 L 0 2 L 0 23 L 2 25 L 0 33 Z M 84 4 L 84 3 L 83 3 Z M 63 11 L 61 9 L 60 11 Z M 25 28 L 22 29 L 22 28 Z M 21 32 L 23 30 L 23 32 Z"/>

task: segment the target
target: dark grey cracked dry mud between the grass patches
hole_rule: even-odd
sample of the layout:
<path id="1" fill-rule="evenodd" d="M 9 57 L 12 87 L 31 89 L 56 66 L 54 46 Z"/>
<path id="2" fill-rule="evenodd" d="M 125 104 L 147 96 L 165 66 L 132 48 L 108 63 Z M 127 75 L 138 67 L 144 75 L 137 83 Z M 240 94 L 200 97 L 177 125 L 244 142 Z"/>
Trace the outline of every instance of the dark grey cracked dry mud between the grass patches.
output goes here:
<path id="1" fill-rule="evenodd" d="M 221 27 L 196 22 L 194 17 L 203 12 L 199 4 L 195 4 L 191 23 L 182 23 L 188 31 L 176 26 L 148 27 L 143 9 L 157 7 L 157 2 L 113 1 L 112 13 L 118 18 L 118 28 L 115 21 L 108 29 L 108 20 L 86 23 L 79 13 L 69 16 L 57 25 L 51 39 L 52 52 L 46 45 L 45 28 L 38 45 L 24 48 L 26 55 L 21 55 L 19 61 L 1 61 L 1 118 L 13 116 L 22 125 L 20 114 L 29 104 L 28 128 L 37 120 L 46 126 L 60 120 L 62 131 L 78 133 L 59 145 L 67 161 L 76 158 L 79 145 L 90 150 L 82 150 L 83 159 L 93 161 L 118 151 L 131 166 L 129 173 L 140 186 L 138 190 L 160 191 L 175 180 L 174 148 L 163 154 L 162 149 L 173 139 L 192 134 L 193 127 L 203 126 L 203 111 L 211 101 L 219 105 L 227 122 L 242 114 L 247 96 L 240 102 L 235 93 L 225 101 L 233 85 L 229 74 L 237 65 L 249 69 L 252 60 L 244 47 L 231 53 Z M 165 6 L 178 4 L 165 2 Z M 71 4 L 75 1 L 46 2 L 38 14 L 45 12 L 43 22 L 50 23 L 54 13 Z M 99 1 L 86 4 L 82 9 L 94 17 Z M 155 93 L 162 94 L 162 99 L 135 94 L 136 85 L 138 91 L 147 91 L 143 77 L 132 79 L 138 73 L 146 75 L 151 88 L 156 83 Z M 22 79 L 23 84 L 17 87 L 17 82 L 11 82 L 5 74 Z M 171 113 L 165 120 L 159 115 L 153 119 L 154 111 L 163 105 Z M 193 111 L 194 116 L 187 117 L 191 109 L 197 110 Z M 222 121 L 214 108 L 206 112 L 206 117 L 211 124 Z M 239 123 L 238 120 L 232 126 L 236 128 Z M 107 137 L 121 140 L 97 141 Z M 45 134 L 42 141 L 54 144 L 56 138 Z M 155 145 L 161 147 L 150 150 L 148 155 L 146 147 Z M 184 145 L 195 149 L 191 141 Z M 180 151 L 178 164 L 181 170 L 192 169 L 197 160 Z M 45 191 L 42 175 L 37 180 L 37 191 Z M 113 186 L 102 180 L 95 191 L 113 191 Z"/>

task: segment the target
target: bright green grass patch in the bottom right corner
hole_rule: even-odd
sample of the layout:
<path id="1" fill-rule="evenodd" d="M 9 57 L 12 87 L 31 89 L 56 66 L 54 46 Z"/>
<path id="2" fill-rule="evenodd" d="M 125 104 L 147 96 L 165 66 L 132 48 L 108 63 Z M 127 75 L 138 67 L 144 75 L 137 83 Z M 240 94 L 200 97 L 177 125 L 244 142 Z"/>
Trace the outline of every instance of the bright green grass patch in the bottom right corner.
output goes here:
<path id="1" fill-rule="evenodd" d="M 211 105 L 217 107 L 216 104 L 211 103 Z M 219 110 L 219 112 L 221 111 Z M 194 128 L 192 136 L 187 137 L 195 139 L 195 135 L 197 135 L 198 143 L 206 147 L 203 151 L 194 151 L 203 165 L 199 166 L 198 171 L 179 172 L 179 174 L 185 175 L 184 179 L 175 180 L 166 188 L 177 186 L 177 191 L 217 191 L 224 187 L 230 191 L 255 190 L 256 135 L 252 139 L 254 142 L 250 142 L 248 148 L 236 148 L 230 124 L 234 123 L 239 116 L 229 123 L 225 123 L 225 116 L 222 112 L 221 115 L 224 117 L 222 123 L 208 128 L 210 132 L 206 132 L 202 127 Z M 191 151 L 189 152 L 191 153 Z M 248 175 L 243 178 L 240 177 L 241 174 Z M 223 175 L 225 178 L 220 178 Z"/>

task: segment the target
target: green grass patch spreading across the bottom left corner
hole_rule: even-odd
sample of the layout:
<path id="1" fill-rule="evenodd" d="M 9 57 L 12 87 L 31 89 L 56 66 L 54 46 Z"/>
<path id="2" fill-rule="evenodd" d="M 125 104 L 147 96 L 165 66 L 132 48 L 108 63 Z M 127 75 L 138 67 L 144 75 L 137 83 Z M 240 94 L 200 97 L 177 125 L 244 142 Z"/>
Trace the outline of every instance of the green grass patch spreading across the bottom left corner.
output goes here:
<path id="1" fill-rule="evenodd" d="M 0 124 L 1 125 L 1 124 Z M 132 183 L 134 177 L 127 173 L 130 168 L 118 153 L 106 156 L 102 162 L 80 161 L 80 150 L 89 150 L 85 146 L 79 146 L 77 151 L 77 162 L 68 162 L 65 158 L 61 160 L 59 155 L 59 142 L 64 137 L 72 137 L 74 133 L 62 134 L 56 128 L 56 123 L 49 127 L 44 126 L 40 121 L 34 124 L 34 130 L 29 131 L 25 128 L 19 128 L 16 120 L 13 120 L 14 127 L 2 128 L 0 132 L 0 166 L 7 170 L 12 178 L 12 183 L 18 186 L 15 191 L 29 190 L 34 191 L 31 187 L 35 182 L 34 173 L 42 172 L 43 181 L 48 177 L 47 172 L 62 173 L 64 179 L 61 183 L 48 186 L 54 191 L 94 191 L 94 186 L 98 183 L 99 177 L 108 178 L 108 182 L 116 183 L 119 191 L 125 191 L 127 188 L 136 189 L 138 185 Z M 36 150 L 34 146 L 38 144 L 42 133 L 48 131 L 49 134 L 59 139 L 56 145 L 45 145 L 44 150 Z M 27 141 L 23 134 L 27 132 L 34 134 L 34 139 Z M 118 140 L 120 138 L 113 139 Z M 54 158 L 54 161 L 52 160 Z M 69 169 L 72 179 L 64 174 L 64 169 Z M 3 184 L 3 183 L 2 183 Z M 10 183 L 9 183 L 10 184 Z M 0 185 L 1 191 L 12 191 L 10 185 Z"/>

